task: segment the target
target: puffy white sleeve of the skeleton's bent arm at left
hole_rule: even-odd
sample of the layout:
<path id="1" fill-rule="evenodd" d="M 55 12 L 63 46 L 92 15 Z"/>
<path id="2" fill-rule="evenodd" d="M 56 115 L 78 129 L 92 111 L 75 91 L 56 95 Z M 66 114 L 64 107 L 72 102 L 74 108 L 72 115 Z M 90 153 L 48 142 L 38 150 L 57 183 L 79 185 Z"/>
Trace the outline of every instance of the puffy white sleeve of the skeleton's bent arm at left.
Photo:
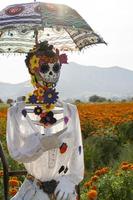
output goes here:
<path id="1" fill-rule="evenodd" d="M 39 134 L 26 122 L 17 107 L 8 109 L 6 139 L 11 157 L 23 163 L 36 160 L 42 155 Z"/>

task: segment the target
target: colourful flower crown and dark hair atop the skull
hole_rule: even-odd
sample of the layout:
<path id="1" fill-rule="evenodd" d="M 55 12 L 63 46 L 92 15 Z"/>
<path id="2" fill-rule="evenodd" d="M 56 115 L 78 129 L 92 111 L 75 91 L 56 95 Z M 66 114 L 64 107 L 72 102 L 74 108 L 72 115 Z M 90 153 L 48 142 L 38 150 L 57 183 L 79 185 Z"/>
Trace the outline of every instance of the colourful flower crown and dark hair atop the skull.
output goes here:
<path id="1" fill-rule="evenodd" d="M 42 62 L 59 62 L 61 66 L 62 64 L 67 64 L 67 55 L 59 54 L 59 50 L 55 49 L 53 45 L 49 45 L 47 41 L 40 42 L 26 56 L 25 63 L 29 69 L 29 73 L 34 75 L 39 70 Z"/>

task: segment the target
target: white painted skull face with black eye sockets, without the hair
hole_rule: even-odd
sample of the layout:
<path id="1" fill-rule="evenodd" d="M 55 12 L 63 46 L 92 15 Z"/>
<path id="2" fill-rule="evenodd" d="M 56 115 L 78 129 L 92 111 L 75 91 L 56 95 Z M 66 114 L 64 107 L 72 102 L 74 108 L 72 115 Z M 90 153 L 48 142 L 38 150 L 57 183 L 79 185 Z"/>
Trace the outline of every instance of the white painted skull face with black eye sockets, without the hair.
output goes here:
<path id="1" fill-rule="evenodd" d="M 60 63 L 41 63 L 39 75 L 45 83 L 57 83 L 60 77 Z"/>

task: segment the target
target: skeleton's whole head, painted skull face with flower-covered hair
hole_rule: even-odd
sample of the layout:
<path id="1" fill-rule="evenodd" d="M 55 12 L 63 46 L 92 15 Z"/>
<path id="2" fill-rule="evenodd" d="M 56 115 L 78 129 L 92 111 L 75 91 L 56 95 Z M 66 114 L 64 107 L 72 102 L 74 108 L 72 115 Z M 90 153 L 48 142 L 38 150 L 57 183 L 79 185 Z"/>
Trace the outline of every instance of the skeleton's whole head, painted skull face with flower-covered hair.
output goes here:
<path id="1" fill-rule="evenodd" d="M 29 73 L 32 75 L 32 84 L 54 86 L 59 80 L 62 64 L 67 64 L 67 55 L 59 54 L 59 50 L 47 41 L 40 42 L 27 54 L 25 59 Z M 38 84 L 37 84 L 38 83 Z"/>

